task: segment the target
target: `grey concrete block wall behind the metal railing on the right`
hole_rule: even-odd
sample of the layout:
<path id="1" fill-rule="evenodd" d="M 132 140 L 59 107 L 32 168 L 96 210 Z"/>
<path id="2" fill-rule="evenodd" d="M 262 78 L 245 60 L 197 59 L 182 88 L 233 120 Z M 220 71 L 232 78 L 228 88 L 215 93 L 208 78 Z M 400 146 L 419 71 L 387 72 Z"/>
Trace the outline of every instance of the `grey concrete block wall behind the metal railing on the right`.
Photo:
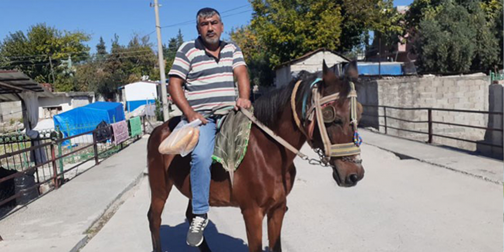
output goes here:
<path id="1" fill-rule="evenodd" d="M 387 105 L 395 107 L 432 107 L 448 109 L 468 109 L 488 111 L 489 78 L 486 75 L 455 76 L 455 77 L 404 77 L 390 80 L 362 81 L 358 88 L 358 99 L 363 104 Z M 500 101 L 502 103 L 502 101 Z M 383 108 L 365 108 L 366 114 L 361 124 L 378 129 L 377 124 L 385 124 Z M 407 120 L 426 121 L 427 110 L 387 109 L 387 116 Z M 460 112 L 433 111 L 433 121 L 470 124 L 487 127 L 488 115 Z M 428 123 L 411 123 L 388 118 L 389 127 L 428 132 Z M 385 132 L 384 127 L 379 128 Z M 424 134 L 388 129 L 388 134 L 427 141 Z M 457 127 L 445 124 L 433 124 L 433 134 L 449 137 L 482 141 L 485 130 Z M 434 137 L 433 143 L 452 146 L 470 151 L 476 151 L 474 143 Z"/>

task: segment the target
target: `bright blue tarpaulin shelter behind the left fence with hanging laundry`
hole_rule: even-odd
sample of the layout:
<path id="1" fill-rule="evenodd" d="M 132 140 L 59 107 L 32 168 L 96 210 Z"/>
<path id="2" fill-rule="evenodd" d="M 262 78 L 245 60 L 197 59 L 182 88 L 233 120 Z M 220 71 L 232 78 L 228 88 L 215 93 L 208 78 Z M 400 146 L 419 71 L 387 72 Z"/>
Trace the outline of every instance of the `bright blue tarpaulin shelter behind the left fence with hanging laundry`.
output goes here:
<path id="1" fill-rule="evenodd" d="M 121 103 L 102 101 L 74 108 L 53 117 L 54 128 L 59 128 L 65 137 L 92 131 L 102 120 L 113 123 L 124 119 Z"/>

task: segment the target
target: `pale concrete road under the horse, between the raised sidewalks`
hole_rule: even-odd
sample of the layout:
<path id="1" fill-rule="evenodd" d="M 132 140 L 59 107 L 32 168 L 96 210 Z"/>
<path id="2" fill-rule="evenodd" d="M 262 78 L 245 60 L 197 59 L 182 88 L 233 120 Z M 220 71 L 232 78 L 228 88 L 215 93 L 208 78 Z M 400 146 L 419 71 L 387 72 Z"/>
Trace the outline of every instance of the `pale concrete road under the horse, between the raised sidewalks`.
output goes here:
<path id="1" fill-rule="evenodd" d="M 353 188 L 338 187 L 328 169 L 295 161 L 284 251 L 502 251 L 501 184 L 370 145 L 362 152 L 366 173 Z M 82 252 L 151 251 L 147 179 L 135 190 Z M 166 251 L 197 251 L 185 245 L 186 204 L 172 190 L 162 216 Z M 248 251 L 238 209 L 212 208 L 209 215 L 206 234 L 214 251 Z M 266 246 L 266 223 L 263 232 Z"/>

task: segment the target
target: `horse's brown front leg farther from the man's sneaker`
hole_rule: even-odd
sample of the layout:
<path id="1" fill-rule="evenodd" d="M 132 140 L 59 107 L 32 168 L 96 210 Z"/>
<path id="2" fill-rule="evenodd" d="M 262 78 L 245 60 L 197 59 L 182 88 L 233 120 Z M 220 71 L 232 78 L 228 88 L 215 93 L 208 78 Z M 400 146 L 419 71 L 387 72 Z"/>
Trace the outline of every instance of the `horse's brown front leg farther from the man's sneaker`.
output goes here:
<path id="1" fill-rule="evenodd" d="M 286 211 L 285 202 L 268 211 L 268 241 L 269 250 L 272 252 L 282 251 L 280 233 L 282 232 L 282 222 Z"/>

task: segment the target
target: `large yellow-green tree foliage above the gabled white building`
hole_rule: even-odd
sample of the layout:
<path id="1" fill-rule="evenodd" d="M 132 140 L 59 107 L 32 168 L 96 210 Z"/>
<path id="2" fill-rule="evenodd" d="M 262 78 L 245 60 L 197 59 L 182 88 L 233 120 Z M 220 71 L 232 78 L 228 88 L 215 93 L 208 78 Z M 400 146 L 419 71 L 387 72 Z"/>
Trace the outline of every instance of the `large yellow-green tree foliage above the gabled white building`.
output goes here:
<path id="1" fill-rule="evenodd" d="M 357 53 L 370 30 L 386 44 L 404 35 L 404 15 L 392 0 L 251 0 L 249 29 L 263 47 L 270 67 L 307 52 L 327 48 Z M 245 49 L 243 50 L 245 51 Z"/>

